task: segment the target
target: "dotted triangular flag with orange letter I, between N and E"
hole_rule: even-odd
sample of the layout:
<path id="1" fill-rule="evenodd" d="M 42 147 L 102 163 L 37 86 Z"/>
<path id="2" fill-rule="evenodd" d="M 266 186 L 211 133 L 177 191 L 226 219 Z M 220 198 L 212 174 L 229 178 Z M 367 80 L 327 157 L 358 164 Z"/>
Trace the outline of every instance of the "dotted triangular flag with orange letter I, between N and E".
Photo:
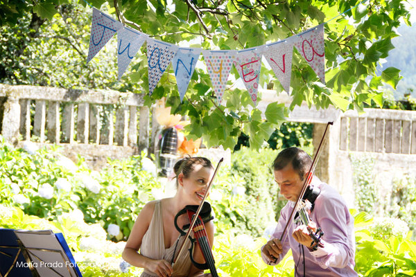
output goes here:
<path id="1" fill-rule="evenodd" d="M 214 87 L 218 102 L 220 103 L 223 98 L 225 84 L 227 84 L 229 71 L 231 71 L 232 63 L 236 58 L 236 51 L 202 50 L 202 55 L 204 55 L 212 86 Z"/>

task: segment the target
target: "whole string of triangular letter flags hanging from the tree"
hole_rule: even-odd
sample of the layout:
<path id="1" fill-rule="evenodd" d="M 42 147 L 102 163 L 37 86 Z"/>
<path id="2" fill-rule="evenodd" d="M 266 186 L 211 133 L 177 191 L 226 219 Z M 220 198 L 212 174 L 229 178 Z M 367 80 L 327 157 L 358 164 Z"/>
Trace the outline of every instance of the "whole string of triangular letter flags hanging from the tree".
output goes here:
<path id="1" fill-rule="evenodd" d="M 223 98 L 229 72 L 234 64 L 245 88 L 250 93 L 254 105 L 256 105 L 262 55 L 266 58 L 284 90 L 289 93 L 293 46 L 297 48 L 297 51 L 310 64 L 320 80 L 325 83 L 324 24 L 306 30 L 299 35 L 288 37 L 283 41 L 255 48 L 243 49 L 241 51 L 211 51 L 201 50 L 200 48 L 179 48 L 174 44 L 150 39 L 148 35 L 123 27 L 123 24 L 119 21 L 93 8 L 87 63 L 107 44 L 115 33 L 117 33 L 118 39 L 119 79 L 127 69 L 132 58 L 139 51 L 139 48 L 144 44 L 144 41 L 147 41 L 150 95 L 162 78 L 164 71 L 172 62 L 177 90 L 182 101 L 201 52 L 218 102 L 221 102 Z"/>

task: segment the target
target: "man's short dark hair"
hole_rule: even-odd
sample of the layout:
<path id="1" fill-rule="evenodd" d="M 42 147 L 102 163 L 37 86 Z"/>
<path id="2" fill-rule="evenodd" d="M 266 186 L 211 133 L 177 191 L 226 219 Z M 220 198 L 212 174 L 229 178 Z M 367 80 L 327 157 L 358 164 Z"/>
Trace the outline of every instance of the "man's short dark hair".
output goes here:
<path id="1" fill-rule="evenodd" d="M 303 181 L 304 175 L 311 168 L 312 160 L 309 154 L 300 148 L 286 148 L 277 154 L 275 161 L 273 161 L 273 170 L 282 170 L 289 163 L 292 164 L 293 170 L 299 174 L 300 179 Z"/>

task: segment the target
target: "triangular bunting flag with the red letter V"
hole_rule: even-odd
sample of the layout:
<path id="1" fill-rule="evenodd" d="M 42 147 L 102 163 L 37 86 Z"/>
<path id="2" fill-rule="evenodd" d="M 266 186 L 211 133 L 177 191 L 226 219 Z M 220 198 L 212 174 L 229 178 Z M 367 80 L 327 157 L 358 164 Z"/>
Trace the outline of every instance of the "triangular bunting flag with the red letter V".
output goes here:
<path id="1" fill-rule="evenodd" d="M 286 39 L 268 44 L 263 52 L 264 57 L 283 89 L 289 93 L 291 89 L 293 39 Z"/>

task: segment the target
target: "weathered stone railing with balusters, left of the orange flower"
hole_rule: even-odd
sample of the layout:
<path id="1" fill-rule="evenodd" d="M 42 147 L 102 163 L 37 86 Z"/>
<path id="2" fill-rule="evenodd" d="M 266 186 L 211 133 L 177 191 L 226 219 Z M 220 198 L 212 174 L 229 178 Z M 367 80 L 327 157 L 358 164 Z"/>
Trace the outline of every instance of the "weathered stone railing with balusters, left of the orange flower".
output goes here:
<path id="1" fill-rule="evenodd" d="M 56 143 L 78 153 L 94 148 L 114 158 L 153 152 L 159 125 L 143 103 L 135 93 L 0 84 L 1 134 L 10 143 Z"/>

